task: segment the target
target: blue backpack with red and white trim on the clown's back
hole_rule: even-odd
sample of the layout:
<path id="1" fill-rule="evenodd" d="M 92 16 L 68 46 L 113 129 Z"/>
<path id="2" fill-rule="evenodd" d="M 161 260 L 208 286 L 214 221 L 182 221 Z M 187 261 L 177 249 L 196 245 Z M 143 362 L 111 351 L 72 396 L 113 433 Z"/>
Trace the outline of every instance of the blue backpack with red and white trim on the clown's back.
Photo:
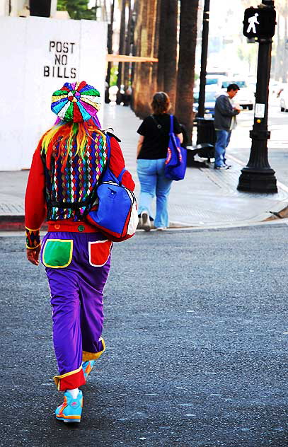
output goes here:
<path id="1" fill-rule="evenodd" d="M 86 219 L 96 226 L 109 240 L 120 242 L 132 238 L 138 224 L 137 202 L 132 191 L 122 185 L 125 168 L 116 178 L 109 168 L 110 137 L 106 135 L 108 146 L 107 167 L 97 187 L 97 198 Z"/>

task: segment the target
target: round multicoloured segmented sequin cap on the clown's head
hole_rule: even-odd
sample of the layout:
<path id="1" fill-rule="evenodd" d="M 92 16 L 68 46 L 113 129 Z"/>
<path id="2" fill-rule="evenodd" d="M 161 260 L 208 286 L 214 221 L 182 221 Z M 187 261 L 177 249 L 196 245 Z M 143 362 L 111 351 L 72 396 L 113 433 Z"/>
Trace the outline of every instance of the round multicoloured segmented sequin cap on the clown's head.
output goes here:
<path id="1" fill-rule="evenodd" d="M 64 83 L 52 95 L 51 110 L 60 120 L 81 122 L 95 117 L 100 108 L 100 93 L 85 81 Z"/>

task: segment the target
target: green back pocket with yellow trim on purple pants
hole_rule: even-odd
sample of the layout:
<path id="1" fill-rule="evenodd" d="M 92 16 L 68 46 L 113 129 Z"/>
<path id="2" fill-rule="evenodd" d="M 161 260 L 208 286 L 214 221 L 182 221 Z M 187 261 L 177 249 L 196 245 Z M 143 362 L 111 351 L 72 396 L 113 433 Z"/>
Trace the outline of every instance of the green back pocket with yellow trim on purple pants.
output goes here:
<path id="1" fill-rule="evenodd" d="M 43 250 L 43 264 L 45 267 L 60 269 L 67 267 L 72 259 L 73 240 L 47 239 Z"/>

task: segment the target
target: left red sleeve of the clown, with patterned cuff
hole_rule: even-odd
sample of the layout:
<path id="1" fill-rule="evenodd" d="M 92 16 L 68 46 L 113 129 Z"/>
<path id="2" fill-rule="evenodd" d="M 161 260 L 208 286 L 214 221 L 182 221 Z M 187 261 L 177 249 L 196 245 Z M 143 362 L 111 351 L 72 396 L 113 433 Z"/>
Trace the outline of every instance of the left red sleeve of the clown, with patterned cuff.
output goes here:
<path id="1" fill-rule="evenodd" d="M 46 216 L 45 173 L 40 148 L 41 144 L 38 144 L 33 155 L 25 193 L 27 248 L 35 248 L 40 244 L 39 230 Z"/>

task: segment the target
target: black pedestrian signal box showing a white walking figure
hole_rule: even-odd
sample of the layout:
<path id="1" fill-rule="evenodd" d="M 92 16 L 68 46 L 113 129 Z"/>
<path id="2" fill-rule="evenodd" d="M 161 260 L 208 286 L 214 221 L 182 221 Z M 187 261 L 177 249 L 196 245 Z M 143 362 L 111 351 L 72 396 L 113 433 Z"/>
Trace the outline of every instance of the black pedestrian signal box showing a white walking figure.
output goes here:
<path id="1" fill-rule="evenodd" d="M 244 13 L 243 35 L 273 37 L 275 35 L 276 11 L 274 8 L 247 8 Z"/>

